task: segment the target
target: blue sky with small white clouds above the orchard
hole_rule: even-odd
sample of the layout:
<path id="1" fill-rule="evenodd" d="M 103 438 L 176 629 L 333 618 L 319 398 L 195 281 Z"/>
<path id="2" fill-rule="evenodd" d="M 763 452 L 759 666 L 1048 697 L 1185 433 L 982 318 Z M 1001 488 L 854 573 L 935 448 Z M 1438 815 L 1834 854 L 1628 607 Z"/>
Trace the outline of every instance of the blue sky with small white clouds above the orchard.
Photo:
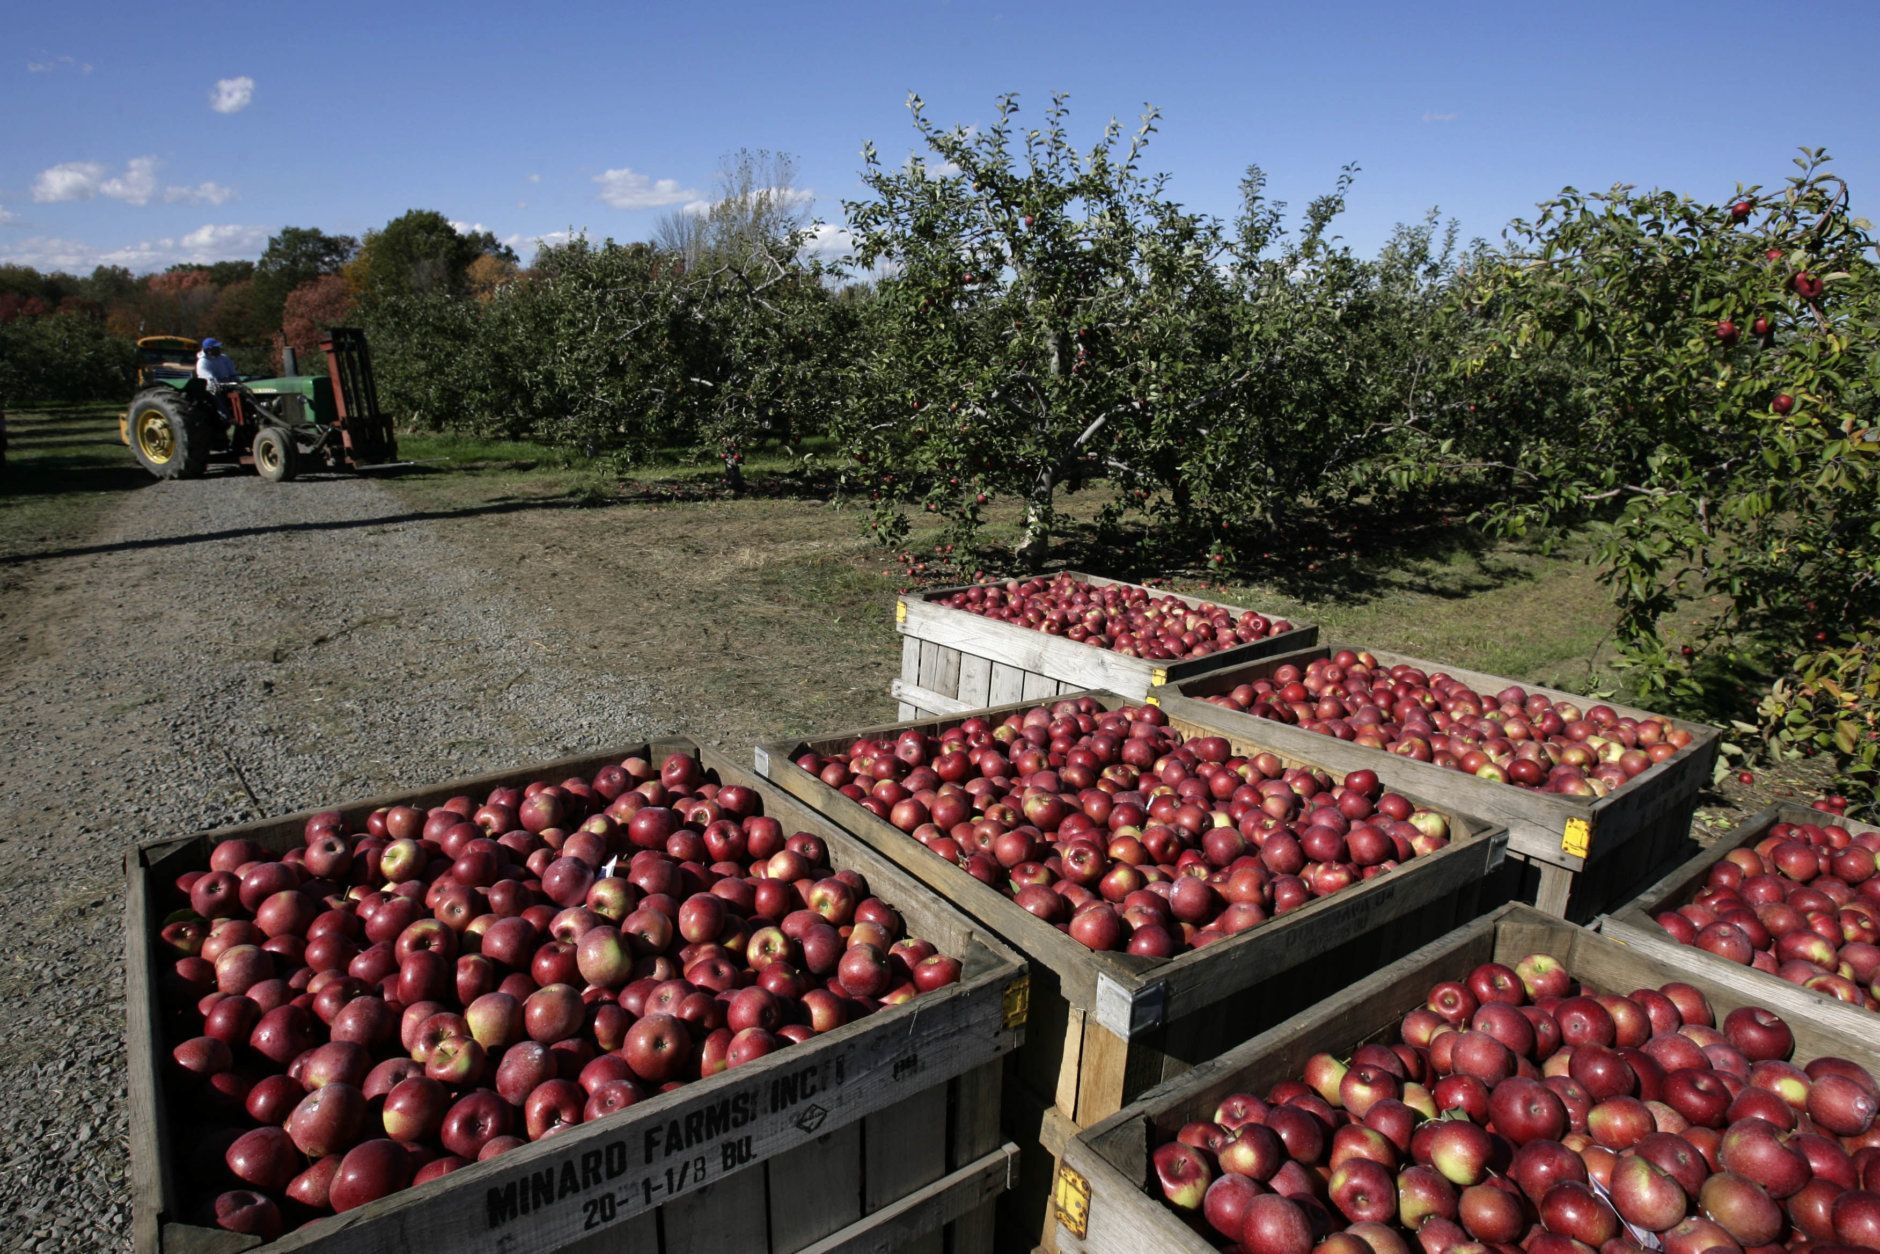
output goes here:
<path id="1" fill-rule="evenodd" d="M 254 258 L 436 209 L 530 252 L 645 239 L 739 147 L 791 152 L 840 222 L 906 94 L 981 122 L 1015 90 L 1073 128 L 1160 105 L 1151 165 L 1235 211 L 1248 162 L 1303 205 L 1361 165 L 1369 252 L 1440 207 L 1498 237 L 1562 184 L 1720 199 L 1825 147 L 1880 194 L 1880 4 L 190 4 L 13 6 L 0 261 L 137 271 Z M 1570 17 L 1562 17 L 1570 13 Z"/>

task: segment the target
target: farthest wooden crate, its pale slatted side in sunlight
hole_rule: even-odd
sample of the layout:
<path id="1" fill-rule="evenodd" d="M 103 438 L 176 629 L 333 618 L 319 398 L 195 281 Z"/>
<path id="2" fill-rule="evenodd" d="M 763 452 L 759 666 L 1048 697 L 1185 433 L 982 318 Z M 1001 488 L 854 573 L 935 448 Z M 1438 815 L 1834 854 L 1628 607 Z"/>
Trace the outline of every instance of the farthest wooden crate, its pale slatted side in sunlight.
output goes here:
<path id="1" fill-rule="evenodd" d="M 1141 587 L 1079 572 L 1066 573 L 1100 587 Z M 940 603 L 940 598 L 963 592 L 966 587 L 972 585 L 934 588 L 895 602 L 895 630 L 901 632 L 901 679 L 895 681 L 891 692 L 901 701 L 901 718 L 940 718 L 985 705 L 1042 701 L 1060 692 L 1079 690 L 1119 692 L 1139 699 L 1151 688 L 1171 684 L 1177 679 L 1207 675 L 1273 652 L 1305 649 L 1318 639 L 1316 626 L 1295 622 L 1293 630 L 1282 635 L 1222 649 L 1205 658 L 1151 662 L 1011 622 L 981 619 Z M 1162 588 L 1143 590 L 1169 596 Z M 1235 615 L 1248 613 L 1239 605 L 1196 596 L 1181 596 L 1181 600 L 1190 605 L 1222 605 Z"/>

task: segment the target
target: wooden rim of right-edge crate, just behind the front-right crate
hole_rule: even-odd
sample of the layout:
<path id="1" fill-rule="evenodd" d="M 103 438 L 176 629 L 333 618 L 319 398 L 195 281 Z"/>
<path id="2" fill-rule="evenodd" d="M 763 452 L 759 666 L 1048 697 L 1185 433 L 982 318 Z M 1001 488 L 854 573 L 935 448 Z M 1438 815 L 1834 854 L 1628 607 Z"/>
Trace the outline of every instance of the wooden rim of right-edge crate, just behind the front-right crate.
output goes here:
<path id="1" fill-rule="evenodd" d="M 1737 966 L 1735 963 L 1720 959 L 1707 949 L 1679 944 L 1654 921 L 1656 914 L 1664 910 L 1677 910 L 1701 893 L 1705 887 L 1705 876 L 1711 874 L 1711 867 L 1722 861 L 1730 850 L 1756 844 L 1763 839 L 1763 833 L 1777 823 L 1833 823 L 1846 827 L 1852 833 L 1880 831 L 1867 823 L 1841 820 L 1833 814 L 1824 814 L 1803 805 L 1773 805 L 1762 814 L 1750 816 L 1716 844 L 1701 850 L 1696 857 L 1671 870 L 1671 874 L 1653 884 L 1634 901 L 1606 916 L 1600 921 L 1600 931 L 1613 940 L 1622 940 L 1639 953 L 1651 953 L 1660 963 L 1679 963 L 1688 970 L 1703 972 L 1711 980 L 1737 983 L 1747 993 L 1752 993 L 1763 1006 L 1784 1017 L 1810 1019 L 1839 1032 L 1871 1036 L 1874 1030 L 1880 1030 L 1880 1015 L 1874 1015 L 1859 1006 L 1848 1006 L 1846 1002 L 1835 1000 L 1825 993 L 1816 993 L 1814 989 L 1790 983 L 1778 976 L 1771 976 L 1769 972 Z"/>

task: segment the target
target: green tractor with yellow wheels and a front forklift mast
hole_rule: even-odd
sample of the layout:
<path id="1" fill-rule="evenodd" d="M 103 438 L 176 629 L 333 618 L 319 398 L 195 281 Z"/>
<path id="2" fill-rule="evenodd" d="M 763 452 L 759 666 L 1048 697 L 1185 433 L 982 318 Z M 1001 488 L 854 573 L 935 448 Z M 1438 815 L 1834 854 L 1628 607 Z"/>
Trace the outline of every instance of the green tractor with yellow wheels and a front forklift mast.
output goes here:
<path id="1" fill-rule="evenodd" d="M 196 378 L 196 340 L 145 337 L 118 434 L 158 479 L 196 479 L 212 462 L 254 466 L 271 483 L 303 470 L 406 464 L 378 408 L 365 331 L 333 327 L 320 348 L 325 376 L 295 374 L 290 361 L 280 378 L 243 380 L 212 397 Z"/>

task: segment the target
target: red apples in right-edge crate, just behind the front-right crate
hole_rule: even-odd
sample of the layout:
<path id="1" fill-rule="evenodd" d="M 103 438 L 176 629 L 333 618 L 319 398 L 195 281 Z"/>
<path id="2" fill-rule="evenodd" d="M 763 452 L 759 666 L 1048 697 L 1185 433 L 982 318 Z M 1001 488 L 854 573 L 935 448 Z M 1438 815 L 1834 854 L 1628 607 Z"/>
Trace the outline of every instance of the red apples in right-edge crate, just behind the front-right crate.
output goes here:
<path id="1" fill-rule="evenodd" d="M 1773 823 L 1756 844 L 1724 854 L 1703 891 L 1656 919 L 1679 944 L 1880 1010 L 1876 872 L 1876 831 Z"/>

